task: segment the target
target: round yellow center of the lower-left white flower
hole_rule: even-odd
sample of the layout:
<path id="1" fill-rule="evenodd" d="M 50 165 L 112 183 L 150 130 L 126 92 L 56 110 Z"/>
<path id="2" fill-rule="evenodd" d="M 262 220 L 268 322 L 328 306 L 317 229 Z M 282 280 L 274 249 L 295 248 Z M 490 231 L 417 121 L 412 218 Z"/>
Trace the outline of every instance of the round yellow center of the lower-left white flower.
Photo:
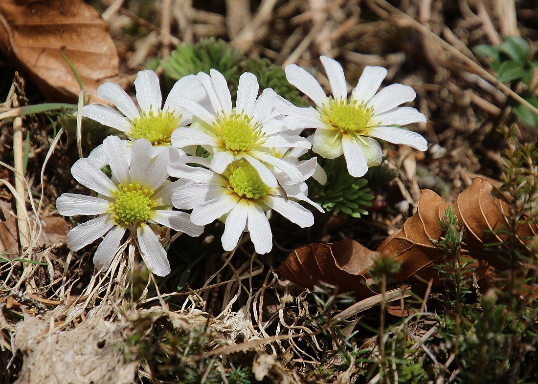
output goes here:
<path id="1" fill-rule="evenodd" d="M 151 208 L 155 203 L 151 200 L 153 191 L 142 189 L 140 184 L 118 185 L 114 193 L 116 201 L 110 204 L 108 213 L 114 214 L 114 224 L 124 223 L 145 225 L 150 218 Z"/>

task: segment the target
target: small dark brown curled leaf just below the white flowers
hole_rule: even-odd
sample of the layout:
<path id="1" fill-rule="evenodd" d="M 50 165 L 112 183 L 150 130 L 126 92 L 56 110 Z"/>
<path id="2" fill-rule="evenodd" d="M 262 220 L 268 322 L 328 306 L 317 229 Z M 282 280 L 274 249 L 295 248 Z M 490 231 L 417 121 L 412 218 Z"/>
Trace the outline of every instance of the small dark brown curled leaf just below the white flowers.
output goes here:
<path id="1" fill-rule="evenodd" d="M 360 298 L 375 292 L 364 283 L 359 274 L 377 255 L 360 243 L 346 239 L 338 243 L 304 245 L 293 251 L 277 269 L 279 276 L 295 284 L 312 289 L 320 282 L 338 285 L 340 291 L 355 291 Z"/>

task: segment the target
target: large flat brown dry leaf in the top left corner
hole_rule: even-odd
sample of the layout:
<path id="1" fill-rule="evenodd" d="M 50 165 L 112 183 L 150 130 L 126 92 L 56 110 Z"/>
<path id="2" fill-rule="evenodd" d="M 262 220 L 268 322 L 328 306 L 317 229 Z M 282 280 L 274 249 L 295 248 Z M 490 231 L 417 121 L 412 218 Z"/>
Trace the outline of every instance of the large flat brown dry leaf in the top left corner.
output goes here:
<path id="1" fill-rule="evenodd" d="M 118 75 L 118 55 L 108 24 L 82 0 L 0 2 L 0 48 L 11 56 L 49 101 L 74 103 L 80 87 L 97 100 L 97 86 Z"/>

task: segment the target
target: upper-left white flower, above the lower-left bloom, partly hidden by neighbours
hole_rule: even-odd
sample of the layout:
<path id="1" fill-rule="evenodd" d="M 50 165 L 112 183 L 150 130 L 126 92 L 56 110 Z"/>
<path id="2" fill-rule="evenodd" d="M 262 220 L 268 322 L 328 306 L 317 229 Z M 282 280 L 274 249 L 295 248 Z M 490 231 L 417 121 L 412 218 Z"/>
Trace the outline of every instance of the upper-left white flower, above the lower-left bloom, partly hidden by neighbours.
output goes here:
<path id="1" fill-rule="evenodd" d="M 163 148 L 171 146 L 172 132 L 176 128 L 192 122 L 192 113 L 172 105 L 169 100 L 181 95 L 197 101 L 203 99 L 206 92 L 195 75 L 182 77 L 174 84 L 161 108 L 159 77 L 154 71 L 148 69 L 139 71 L 134 87 L 140 110 L 118 84 L 106 82 L 97 89 L 97 96 L 109 99 L 123 115 L 98 104 L 83 106 L 82 115 L 123 132 L 127 136 L 125 144 L 128 146 L 138 139 L 146 139 L 152 144 L 155 157 Z M 106 165 L 102 146 L 95 148 L 88 158 L 99 168 Z"/>

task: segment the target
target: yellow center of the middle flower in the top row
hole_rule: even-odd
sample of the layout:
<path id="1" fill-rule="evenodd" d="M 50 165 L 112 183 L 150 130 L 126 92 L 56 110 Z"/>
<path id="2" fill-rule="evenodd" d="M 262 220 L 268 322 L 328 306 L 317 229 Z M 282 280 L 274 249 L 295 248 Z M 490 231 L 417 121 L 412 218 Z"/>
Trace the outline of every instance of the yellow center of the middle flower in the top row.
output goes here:
<path id="1" fill-rule="evenodd" d="M 259 144 L 261 129 L 258 122 L 252 123 L 252 118 L 243 112 L 232 110 L 229 118 L 221 117 L 217 121 L 222 132 L 222 141 L 227 150 L 234 153 L 247 152 Z M 218 131 L 218 129 L 217 129 Z"/>

